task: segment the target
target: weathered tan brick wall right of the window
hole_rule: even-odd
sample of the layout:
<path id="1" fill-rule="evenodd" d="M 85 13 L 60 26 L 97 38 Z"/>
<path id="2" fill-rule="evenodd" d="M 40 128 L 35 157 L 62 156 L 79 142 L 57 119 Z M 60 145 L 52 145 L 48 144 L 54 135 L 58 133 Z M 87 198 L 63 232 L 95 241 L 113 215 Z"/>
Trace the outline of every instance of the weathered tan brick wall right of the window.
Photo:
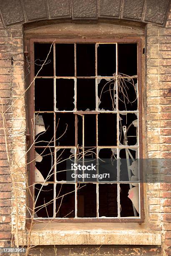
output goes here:
<path id="1" fill-rule="evenodd" d="M 147 25 L 146 58 L 147 155 L 171 159 L 171 13 L 165 28 Z M 163 174 L 167 182 L 171 181 L 170 173 L 166 162 Z M 171 184 L 151 184 L 147 196 L 148 218 L 162 230 L 163 249 L 171 255 Z"/>

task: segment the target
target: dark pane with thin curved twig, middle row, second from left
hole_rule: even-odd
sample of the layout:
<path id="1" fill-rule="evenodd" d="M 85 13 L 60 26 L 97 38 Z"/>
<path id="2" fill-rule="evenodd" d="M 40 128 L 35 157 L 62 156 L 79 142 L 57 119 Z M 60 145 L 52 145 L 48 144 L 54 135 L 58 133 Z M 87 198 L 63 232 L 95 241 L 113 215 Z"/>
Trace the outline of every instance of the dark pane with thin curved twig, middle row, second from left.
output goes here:
<path id="1" fill-rule="evenodd" d="M 56 113 L 56 146 L 75 146 L 73 113 Z"/>

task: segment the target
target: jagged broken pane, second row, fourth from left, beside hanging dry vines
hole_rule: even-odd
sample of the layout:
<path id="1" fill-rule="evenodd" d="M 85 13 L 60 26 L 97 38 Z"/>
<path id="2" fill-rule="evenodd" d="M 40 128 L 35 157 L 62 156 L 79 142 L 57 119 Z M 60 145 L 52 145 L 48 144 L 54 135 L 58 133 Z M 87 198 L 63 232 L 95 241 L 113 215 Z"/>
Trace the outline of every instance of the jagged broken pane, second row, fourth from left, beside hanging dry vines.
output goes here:
<path id="1" fill-rule="evenodd" d="M 116 81 L 98 79 L 98 110 L 116 110 Z"/>

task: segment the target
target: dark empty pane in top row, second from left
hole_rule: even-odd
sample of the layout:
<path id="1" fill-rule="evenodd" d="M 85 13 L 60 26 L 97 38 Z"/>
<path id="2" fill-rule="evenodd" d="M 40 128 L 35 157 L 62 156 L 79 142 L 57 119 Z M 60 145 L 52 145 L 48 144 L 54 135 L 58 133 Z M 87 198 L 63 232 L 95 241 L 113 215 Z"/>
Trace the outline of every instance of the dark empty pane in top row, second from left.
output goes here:
<path id="1" fill-rule="evenodd" d="M 56 76 L 74 77 L 74 44 L 55 44 Z"/>

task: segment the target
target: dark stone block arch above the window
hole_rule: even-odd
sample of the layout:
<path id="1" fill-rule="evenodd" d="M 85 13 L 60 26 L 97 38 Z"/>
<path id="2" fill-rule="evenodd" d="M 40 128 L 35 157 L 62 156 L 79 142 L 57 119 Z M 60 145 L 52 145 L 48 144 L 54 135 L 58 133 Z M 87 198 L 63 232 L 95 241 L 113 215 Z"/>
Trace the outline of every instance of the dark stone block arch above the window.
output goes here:
<path id="1" fill-rule="evenodd" d="M 35 20 L 98 18 L 164 26 L 171 0 L 0 0 L 5 26 Z"/>

